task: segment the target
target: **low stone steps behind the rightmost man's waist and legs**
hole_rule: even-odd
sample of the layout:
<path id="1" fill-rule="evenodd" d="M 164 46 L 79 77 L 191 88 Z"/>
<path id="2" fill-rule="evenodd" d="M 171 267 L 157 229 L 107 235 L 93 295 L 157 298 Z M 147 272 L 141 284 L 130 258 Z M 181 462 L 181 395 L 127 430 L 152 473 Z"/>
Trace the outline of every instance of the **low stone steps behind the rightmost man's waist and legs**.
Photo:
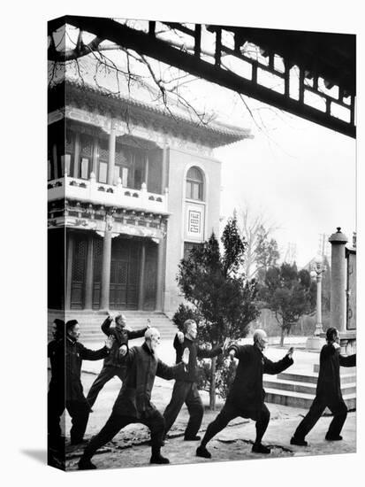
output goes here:
<path id="1" fill-rule="evenodd" d="M 308 409 L 316 396 L 318 365 L 313 372 L 293 374 L 283 372 L 278 375 L 265 375 L 263 387 L 266 391 L 265 401 L 283 406 Z M 341 390 L 349 410 L 356 409 L 356 369 L 341 367 Z"/>

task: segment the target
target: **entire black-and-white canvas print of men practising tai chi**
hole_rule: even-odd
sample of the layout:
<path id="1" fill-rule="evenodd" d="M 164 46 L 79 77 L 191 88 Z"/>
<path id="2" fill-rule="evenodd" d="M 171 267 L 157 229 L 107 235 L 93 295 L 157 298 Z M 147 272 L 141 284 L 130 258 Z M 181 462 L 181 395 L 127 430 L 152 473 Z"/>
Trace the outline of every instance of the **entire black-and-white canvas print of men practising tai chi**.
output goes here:
<path id="1" fill-rule="evenodd" d="M 355 452 L 356 36 L 48 35 L 49 464 Z"/>

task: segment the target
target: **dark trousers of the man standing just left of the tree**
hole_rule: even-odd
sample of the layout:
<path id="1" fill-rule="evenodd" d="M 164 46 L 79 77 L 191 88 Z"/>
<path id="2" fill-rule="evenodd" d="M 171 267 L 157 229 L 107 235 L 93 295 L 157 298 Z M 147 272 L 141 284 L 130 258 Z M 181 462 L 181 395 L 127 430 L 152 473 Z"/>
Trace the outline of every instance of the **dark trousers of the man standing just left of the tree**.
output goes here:
<path id="1" fill-rule="evenodd" d="M 187 406 L 190 416 L 185 430 L 185 437 L 196 436 L 202 424 L 204 407 L 202 406 L 202 398 L 200 397 L 196 383 L 188 383 L 185 381 L 176 381 L 173 386 L 171 401 L 163 413 L 163 418 L 166 423 L 165 434 L 176 421 L 184 403 Z"/>

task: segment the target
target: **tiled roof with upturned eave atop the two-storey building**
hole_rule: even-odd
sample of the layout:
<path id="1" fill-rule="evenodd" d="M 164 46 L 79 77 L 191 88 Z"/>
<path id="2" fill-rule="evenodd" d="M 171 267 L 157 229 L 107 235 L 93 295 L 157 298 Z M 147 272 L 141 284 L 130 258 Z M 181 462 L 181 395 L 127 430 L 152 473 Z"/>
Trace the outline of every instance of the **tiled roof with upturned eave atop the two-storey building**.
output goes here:
<path id="1" fill-rule="evenodd" d="M 53 97 L 52 97 L 53 95 Z M 63 98 L 65 97 L 64 101 Z M 53 103 L 52 103 L 53 102 Z M 122 97 L 117 94 L 96 88 L 78 81 L 66 80 L 51 89 L 49 105 L 51 109 L 59 108 L 59 104 L 88 105 L 93 111 L 105 113 L 107 109 L 115 118 L 125 120 L 143 120 L 144 124 L 158 127 L 164 133 L 184 134 L 192 140 L 200 140 L 211 148 L 254 138 L 249 129 L 238 128 L 222 123 L 211 122 L 202 125 L 187 116 L 168 113 L 152 104 L 147 104 L 133 98 Z M 55 106 L 52 106 L 55 105 Z"/>

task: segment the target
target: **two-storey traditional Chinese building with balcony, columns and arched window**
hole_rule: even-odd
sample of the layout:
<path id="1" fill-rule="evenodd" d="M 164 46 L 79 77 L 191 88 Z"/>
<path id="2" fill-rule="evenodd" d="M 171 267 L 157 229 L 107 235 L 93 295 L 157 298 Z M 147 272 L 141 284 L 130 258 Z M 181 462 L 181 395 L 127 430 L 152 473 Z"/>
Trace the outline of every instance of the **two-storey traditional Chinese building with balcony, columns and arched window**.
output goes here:
<path id="1" fill-rule="evenodd" d="M 71 77 L 49 92 L 49 308 L 158 310 L 181 302 L 179 260 L 219 232 L 217 122 Z"/>

